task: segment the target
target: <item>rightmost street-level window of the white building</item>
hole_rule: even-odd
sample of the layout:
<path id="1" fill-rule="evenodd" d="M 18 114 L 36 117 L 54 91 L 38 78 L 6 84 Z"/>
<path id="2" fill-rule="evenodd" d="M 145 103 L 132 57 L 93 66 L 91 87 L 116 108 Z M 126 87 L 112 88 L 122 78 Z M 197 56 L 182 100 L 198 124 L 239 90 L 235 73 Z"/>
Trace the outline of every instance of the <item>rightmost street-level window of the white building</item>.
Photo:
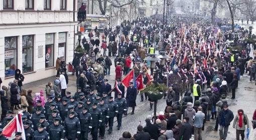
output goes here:
<path id="1" fill-rule="evenodd" d="M 64 58 L 66 56 L 66 32 L 59 32 L 59 57 Z"/>

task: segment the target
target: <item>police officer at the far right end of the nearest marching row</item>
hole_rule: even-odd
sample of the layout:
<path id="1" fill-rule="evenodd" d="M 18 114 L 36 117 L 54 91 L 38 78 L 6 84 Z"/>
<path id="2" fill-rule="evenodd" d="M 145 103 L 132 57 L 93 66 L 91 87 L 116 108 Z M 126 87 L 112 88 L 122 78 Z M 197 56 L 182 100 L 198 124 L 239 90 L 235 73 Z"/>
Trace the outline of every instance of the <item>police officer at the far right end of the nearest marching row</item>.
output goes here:
<path id="1" fill-rule="evenodd" d="M 116 115 L 116 118 L 117 118 L 117 129 L 119 130 L 122 124 L 122 114 L 127 111 L 126 100 L 122 98 L 122 93 L 118 93 L 117 98 L 115 98 L 114 101 L 118 105 L 118 113 Z"/>

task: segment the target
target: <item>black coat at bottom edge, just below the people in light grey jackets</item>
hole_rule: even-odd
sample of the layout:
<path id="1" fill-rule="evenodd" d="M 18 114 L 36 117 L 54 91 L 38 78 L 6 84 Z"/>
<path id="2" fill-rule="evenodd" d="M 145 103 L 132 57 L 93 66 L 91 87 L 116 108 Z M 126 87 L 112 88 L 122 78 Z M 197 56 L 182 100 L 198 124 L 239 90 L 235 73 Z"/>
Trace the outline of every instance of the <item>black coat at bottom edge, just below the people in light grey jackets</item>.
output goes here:
<path id="1" fill-rule="evenodd" d="M 189 140 L 192 136 L 192 126 L 188 122 L 183 123 L 180 129 L 179 137 L 182 140 Z"/>

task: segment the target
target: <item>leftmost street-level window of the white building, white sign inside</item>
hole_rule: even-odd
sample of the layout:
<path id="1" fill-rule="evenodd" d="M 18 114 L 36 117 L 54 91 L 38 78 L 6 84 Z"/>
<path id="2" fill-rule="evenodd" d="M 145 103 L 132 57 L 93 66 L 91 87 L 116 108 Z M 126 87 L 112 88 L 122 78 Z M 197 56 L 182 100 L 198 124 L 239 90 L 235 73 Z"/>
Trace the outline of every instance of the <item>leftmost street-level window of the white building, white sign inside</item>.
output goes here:
<path id="1" fill-rule="evenodd" d="M 17 69 L 17 36 L 5 37 L 5 76 L 12 76 Z"/>

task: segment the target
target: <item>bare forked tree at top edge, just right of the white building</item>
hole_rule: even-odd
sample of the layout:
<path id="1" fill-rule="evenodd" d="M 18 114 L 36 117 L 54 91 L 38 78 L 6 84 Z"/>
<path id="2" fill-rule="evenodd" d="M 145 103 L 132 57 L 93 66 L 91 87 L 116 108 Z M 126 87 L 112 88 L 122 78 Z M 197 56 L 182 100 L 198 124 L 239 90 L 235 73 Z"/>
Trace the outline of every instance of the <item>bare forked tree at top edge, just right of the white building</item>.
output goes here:
<path id="1" fill-rule="evenodd" d="M 121 8 L 125 5 L 137 3 L 138 0 L 97 0 L 99 5 L 99 10 L 101 14 L 106 14 L 107 2 L 111 4 L 112 7 Z"/>

